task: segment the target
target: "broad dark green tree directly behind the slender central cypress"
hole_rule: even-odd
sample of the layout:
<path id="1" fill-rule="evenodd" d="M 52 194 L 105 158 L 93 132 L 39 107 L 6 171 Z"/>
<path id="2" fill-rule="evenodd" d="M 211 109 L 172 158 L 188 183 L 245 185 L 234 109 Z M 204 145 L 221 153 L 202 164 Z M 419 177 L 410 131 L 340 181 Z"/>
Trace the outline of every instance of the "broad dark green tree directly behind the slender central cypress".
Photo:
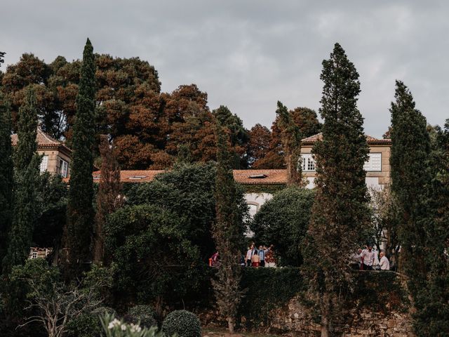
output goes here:
<path id="1" fill-rule="evenodd" d="M 180 164 L 157 175 L 152 183 L 133 184 L 126 193 L 128 204 L 153 204 L 183 219 L 186 238 L 199 248 L 206 261 L 215 249 L 210 235 L 215 221 L 215 177 L 213 163 Z M 236 194 L 239 218 L 246 218 L 243 192 Z"/>

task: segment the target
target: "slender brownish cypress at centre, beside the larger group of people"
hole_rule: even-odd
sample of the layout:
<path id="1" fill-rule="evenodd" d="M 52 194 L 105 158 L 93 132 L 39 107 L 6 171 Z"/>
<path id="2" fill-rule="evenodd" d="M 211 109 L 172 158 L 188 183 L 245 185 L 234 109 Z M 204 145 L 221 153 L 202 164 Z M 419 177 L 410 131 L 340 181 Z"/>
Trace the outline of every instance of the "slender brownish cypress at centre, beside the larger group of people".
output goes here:
<path id="1" fill-rule="evenodd" d="M 242 292 L 239 289 L 241 267 L 238 263 L 243 227 L 239 223 L 236 185 L 232 176 L 232 154 L 229 153 L 225 128 L 218 123 L 217 131 L 217 177 L 215 180 L 216 220 L 213 237 L 220 254 L 217 279 L 213 280 L 217 305 L 225 317 L 229 333 L 234 333 L 235 317 Z"/>

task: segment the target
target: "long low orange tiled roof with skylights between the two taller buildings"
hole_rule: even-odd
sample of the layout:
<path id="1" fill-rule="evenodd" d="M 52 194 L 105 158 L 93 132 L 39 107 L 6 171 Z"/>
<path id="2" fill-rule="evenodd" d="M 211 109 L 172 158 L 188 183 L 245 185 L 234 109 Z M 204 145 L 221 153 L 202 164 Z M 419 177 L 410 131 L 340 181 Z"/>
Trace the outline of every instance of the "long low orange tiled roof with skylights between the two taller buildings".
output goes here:
<path id="1" fill-rule="evenodd" d="M 163 170 L 120 171 L 122 183 L 147 183 Z M 100 181 L 100 171 L 92 173 L 93 181 Z M 234 170 L 234 179 L 241 184 L 285 184 L 287 170 Z M 68 182 L 68 178 L 65 180 Z"/>

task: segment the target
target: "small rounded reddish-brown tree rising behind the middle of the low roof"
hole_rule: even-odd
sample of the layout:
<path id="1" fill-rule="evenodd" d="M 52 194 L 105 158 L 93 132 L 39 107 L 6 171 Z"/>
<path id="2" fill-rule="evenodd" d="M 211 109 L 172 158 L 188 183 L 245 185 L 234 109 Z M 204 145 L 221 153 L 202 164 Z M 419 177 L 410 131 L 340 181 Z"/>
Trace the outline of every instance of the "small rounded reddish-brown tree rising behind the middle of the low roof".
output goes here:
<path id="1" fill-rule="evenodd" d="M 272 133 L 267 126 L 262 126 L 257 123 L 248 132 L 248 137 L 248 164 L 251 167 L 253 167 L 253 165 L 259 166 L 257 163 L 264 159 L 269 149 Z M 260 169 L 264 168 L 262 167 Z"/>

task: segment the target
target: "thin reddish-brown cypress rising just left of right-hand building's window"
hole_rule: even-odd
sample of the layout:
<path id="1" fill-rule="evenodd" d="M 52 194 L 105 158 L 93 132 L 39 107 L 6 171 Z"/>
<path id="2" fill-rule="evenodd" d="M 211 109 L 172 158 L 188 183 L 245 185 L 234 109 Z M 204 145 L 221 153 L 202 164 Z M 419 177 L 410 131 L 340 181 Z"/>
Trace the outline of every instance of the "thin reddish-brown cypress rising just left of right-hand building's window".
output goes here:
<path id="1" fill-rule="evenodd" d="M 301 159 L 301 131 L 295 124 L 292 114 L 287 107 L 278 101 L 276 114 L 281 129 L 282 148 L 284 158 L 287 164 L 287 183 L 288 185 L 302 184 L 302 166 Z"/>

